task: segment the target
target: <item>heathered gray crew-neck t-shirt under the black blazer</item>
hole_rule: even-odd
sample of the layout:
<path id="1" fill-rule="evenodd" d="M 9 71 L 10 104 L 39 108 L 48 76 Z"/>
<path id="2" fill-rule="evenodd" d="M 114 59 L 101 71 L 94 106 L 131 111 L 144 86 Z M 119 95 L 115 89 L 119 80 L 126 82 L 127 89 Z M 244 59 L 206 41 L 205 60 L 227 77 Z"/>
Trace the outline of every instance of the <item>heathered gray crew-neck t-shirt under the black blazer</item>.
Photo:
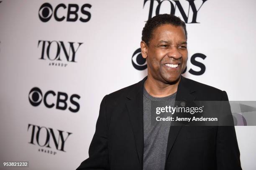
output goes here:
<path id="1" fill-rule="evenodd" d="M 166 147 L 171 121 L 157 121 L 151 125 L 151 101 L 174 106 L 176 92 L 166 97 L 153 97 L 143 88 L 144 151 L 143 170 L 164 170 Z M 161 117 L 166 115 L 161 115 Z"/>

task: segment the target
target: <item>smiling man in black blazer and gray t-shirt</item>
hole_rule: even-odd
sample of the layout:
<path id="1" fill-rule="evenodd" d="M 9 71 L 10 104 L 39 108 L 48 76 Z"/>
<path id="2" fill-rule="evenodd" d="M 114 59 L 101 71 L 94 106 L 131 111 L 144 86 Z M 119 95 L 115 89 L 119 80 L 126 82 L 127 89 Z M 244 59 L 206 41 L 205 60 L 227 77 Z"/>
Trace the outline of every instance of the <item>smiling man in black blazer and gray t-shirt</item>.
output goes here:
<path id="1" fill-rule="evenodd" d="M 89 158 L 77 170 L 241 170 L 234 126 L 151 125 L 151 103 L 228 100 L 225 91 L 187 79 L 187 30 L 157 15 L 142 31 L 148 76 L 106 95 Z"/>

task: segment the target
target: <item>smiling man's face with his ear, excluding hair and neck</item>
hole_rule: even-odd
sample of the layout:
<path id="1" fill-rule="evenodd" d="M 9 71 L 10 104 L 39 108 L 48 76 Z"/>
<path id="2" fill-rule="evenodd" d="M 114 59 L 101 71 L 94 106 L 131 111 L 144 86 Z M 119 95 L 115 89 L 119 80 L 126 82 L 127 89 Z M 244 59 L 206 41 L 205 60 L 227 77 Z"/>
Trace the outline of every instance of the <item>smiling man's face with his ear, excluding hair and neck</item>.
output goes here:
<path id="1" fill-rule="evenodd" d="M 148 75 L 168 84 L 177 82 L 187 65 L 185 31 L 181 26 L 160 25 L 148 46 L 141 42 L 141 51 L 147 58 Z"/>

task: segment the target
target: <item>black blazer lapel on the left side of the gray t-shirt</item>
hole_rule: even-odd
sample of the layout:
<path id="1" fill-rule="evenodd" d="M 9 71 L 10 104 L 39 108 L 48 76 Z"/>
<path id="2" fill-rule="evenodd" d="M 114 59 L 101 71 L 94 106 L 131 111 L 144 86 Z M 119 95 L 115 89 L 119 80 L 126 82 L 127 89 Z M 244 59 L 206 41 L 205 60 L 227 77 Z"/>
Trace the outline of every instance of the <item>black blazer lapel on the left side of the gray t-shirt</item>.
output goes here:
<path id="1" fill-rule="evenodd" d="M 136 143 L 136 150 L 138 160 L 143 165 L 143 147 L 144 147 L 144 133 L 143 133 L 143 84 L 147 76 L 138 82 L 136 87 L 127 96 L 128 101 L 126 107 L 128 109 L 133 135 Z"/>

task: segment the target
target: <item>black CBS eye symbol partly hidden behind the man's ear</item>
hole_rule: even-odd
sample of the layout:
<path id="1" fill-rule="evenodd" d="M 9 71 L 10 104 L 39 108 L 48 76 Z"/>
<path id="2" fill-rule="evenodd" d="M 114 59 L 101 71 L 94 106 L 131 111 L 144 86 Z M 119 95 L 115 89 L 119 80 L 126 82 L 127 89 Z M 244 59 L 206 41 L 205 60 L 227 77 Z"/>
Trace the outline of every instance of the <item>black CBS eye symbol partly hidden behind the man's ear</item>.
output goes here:
<path id="1" fill-rule="evenodd" d="M 145 70 L 147 68 L 146 59 L 141 55 L 141 48 L 138 48 L 132 56 L 133 67 L 137 70 Z"/>

